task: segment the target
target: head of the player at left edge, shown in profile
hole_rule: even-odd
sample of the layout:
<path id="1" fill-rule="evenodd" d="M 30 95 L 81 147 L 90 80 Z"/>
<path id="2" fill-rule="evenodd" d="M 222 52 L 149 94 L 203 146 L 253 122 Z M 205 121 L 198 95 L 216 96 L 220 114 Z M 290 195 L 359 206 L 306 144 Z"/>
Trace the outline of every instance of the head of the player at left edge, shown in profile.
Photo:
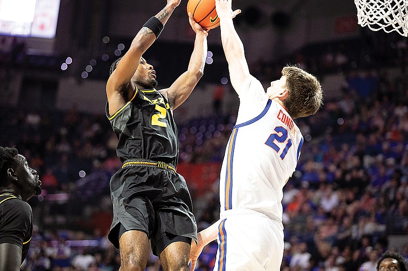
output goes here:
<path id="1" fill-rule="evenodd" d="M 0 189 L 10 189 L 24 199 L 41 194 L 37 171 L 15 147 L 0 147 Z"/>

